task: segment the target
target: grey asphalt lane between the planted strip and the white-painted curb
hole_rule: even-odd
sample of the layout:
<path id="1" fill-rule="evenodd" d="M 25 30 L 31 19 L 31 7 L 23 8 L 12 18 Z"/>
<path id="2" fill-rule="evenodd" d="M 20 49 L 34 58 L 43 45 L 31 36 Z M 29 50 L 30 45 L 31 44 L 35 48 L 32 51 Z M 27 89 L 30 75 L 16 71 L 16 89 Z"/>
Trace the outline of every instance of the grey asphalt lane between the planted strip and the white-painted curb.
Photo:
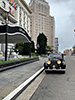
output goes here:
<path id="1" fill-rule="evenodd" d="M 0 100 L 43 67 L 44 59 L 0 72 Z"/>

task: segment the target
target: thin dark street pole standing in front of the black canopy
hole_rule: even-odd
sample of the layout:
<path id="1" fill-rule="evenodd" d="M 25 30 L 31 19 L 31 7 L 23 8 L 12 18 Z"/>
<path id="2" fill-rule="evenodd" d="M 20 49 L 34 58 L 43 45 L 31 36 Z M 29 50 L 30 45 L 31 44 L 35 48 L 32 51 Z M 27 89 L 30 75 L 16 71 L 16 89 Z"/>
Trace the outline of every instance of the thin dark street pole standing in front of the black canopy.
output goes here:
<path id="1" fill-rule="evenodd" d="M 8 50 L 8 12 L 6 12 L 6 34 L 5 34 L 5 61 L 7 61 L 7 50 Z"/>

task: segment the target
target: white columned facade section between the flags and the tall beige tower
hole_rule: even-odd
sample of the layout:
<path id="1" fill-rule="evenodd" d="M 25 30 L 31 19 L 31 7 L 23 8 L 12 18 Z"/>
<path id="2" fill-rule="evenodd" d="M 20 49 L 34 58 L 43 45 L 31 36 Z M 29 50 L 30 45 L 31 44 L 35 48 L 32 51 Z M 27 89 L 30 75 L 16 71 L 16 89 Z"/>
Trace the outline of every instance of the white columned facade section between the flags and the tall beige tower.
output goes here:
<path id="1" fill-rule="evenodd" d="M 25 0 L 17 0 L 17 25 L 24 28 L 25 31 L 30 36 L 30 14 L 31 10 L 29 9 Z"/>

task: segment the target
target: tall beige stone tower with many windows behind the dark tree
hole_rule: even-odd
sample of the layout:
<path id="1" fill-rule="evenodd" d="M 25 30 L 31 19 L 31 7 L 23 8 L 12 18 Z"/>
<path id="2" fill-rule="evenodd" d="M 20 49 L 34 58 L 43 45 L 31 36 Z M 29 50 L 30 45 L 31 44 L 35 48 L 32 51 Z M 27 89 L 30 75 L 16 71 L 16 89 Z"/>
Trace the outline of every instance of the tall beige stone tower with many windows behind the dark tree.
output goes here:
<path id="1" fill-rule="evenodd" d="M 55 46 L 55 21 L 50 16 L 50 7 L 45 0 L 31 0 L 31 37 L 35 45 L 40 33 L 47 37 L 47 45 Z"/>

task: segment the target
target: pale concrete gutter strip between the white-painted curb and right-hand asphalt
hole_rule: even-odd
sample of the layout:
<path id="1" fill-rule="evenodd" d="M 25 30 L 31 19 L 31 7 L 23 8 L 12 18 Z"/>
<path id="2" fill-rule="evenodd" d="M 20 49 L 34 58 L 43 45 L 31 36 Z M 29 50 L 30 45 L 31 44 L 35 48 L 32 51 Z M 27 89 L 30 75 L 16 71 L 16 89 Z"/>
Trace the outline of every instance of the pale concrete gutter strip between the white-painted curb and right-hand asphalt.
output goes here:
<path id="1" fill-rule="evenodd" d="M 45 72 L 42 72 L 26 89 L 22 94 L 18 96 L 16 100 L 30 100 L 30 98 L 34 95 L 37 88 L 41 84 L 42 80 L 46 76 Z"/>

